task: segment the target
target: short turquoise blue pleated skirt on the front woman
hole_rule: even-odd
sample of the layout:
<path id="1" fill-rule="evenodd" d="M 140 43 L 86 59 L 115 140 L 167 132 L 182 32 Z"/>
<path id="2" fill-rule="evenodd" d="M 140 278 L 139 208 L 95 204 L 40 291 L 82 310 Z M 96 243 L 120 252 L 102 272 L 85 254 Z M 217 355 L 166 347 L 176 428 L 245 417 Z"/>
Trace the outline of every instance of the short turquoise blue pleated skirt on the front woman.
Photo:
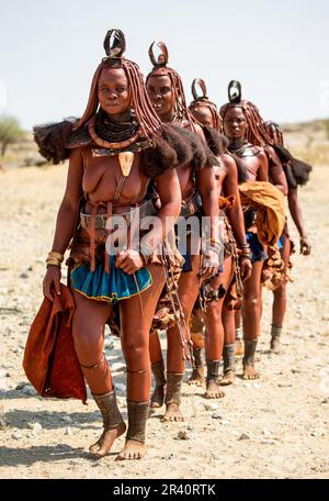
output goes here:
<path id="1" fill-rule="evenodd" d="M 152 283 L 151 274 L 146 267 L 138 269 L 135 278 L 134 275 L 127 275 L 122 269 L 115 268 L 115 256 L 110 256 L 110 274 L 105 272 L 103 263 L 98 263 L 93 272 L 90 270 L 90 264 L 86 264 L 73 268 L 70 278 L 71 287 L 77 292 L 87 298 L 110 303 L 132 298 Z"/>

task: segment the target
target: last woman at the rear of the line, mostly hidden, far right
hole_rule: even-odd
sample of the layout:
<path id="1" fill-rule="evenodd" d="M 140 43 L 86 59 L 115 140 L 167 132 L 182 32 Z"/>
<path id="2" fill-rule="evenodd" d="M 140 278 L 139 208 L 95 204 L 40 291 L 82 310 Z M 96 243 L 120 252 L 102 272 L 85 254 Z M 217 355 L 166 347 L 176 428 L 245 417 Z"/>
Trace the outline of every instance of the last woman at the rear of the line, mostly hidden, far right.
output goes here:
<path id="1" fill-rule="evenodd" d="M 302 208 L 298 201 L 298 186 L 305 186 L 309 178 L 311 167 L 302 160 L 294 158 L 291 153 L 284 147 L 283 134 L 280 126 L 274 122 L 266 123 L 266 132 L 272 140 L 272 144 L 277 151 L 283 165 L 284 174 L 287 183 L 287 201 L 290 213 L 299 233 L 300 254 L 308 256 L 310 254 L 310 244 L 305 231 Z M 273 307 L 272 307 L 272 327 L 271 327 L 271 349 L 280 352 L 280 338 L 283 329 L 284 316 L 286 312 L 286 285 L 287 271 L 292 266 L 290 256 L 293 250 L 293 242 L 290 237 L 287 224 L 285 224 L 283 234 L 281 235 L 281 257 L 284 263 L 283 277 L 279 287 L 273 289 Z"/>

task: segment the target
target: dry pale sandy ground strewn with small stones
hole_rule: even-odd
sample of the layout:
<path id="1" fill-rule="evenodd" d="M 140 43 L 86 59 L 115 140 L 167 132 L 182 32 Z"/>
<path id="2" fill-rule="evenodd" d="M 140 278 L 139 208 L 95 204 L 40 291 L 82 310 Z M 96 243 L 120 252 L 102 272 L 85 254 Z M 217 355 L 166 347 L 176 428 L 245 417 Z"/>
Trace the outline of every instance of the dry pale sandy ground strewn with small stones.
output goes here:
<path id="1" fill-rule="evenodd" d="M 63 166 L 0 176 L 0 478 L 328 477 L 329 168 L 318 166 L 309 186 L 300 190 L 313 256 L 294 256 L 283 353 L 268 352 L 271 292 L 265 291 L 262 378 L 237 378 L 213 409 L 206 407 L 209 401 L 202 398 L 202 389 L 184 385 L 186 422 L 162 424 L 158 410 L 148 422 L 147 456 L 136 463 L 114 461 L 123 438 L 105 459 L 91 459 L 88 446 L 101 432 L 94 402 L 89 399 L 84 407 L 73 400 L 42 399 L 22 369 L 65 178 Z M 126 416 L 120 342 L 109 334 L 106 355 L 114 364 Z M 179 438 L 180 431 L 188 439 Z"/>

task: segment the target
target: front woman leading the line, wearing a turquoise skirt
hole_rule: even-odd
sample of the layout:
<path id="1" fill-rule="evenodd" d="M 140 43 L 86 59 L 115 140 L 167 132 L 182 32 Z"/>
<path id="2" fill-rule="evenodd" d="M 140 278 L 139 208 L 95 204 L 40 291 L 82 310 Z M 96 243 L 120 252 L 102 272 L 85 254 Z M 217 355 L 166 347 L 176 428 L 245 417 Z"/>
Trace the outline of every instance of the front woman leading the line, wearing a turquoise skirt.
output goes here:
<path id="1" fill-rule="evenodd" d="M 60 293 L 60 265 L 70 247 L 69 277 L 76 304 L 73 342 L 103 416 L 103 433 L 90 447 L 97 458 L 107 454 L 115 438 L 126 431 L 103 355 L 105 323 L 112 304 L 118 303 L 128 428 L 117 459 L 137 459 L 145 454 L 149 412 L 149 329 L 164 285 L 157 249 L 181 208 L 173 167 L 191 160 L 194 145 L 158 119 L 138 66 L 123 57 L 125 38 L 120 30 L 106 34 L 104 48 L 106 57 L 95 70 L 82 118 L 75 123 L 65 121 L 35 129 L 39 151 L 48 160 L 56 164 L 69 157 L 66 191 L 47 257 L 44 294 L 53 299 L 53 294 Z M 133 232 L 136 212 L 140 225 L 145 216 L 155 214 L 152 202 L 147 200 L 150 179 L 160 199 L 157 221 L 161 224 L 150 231 L 144 229 L 141 243 L 136 246 L 126 238 L 115 253 L 112 220 L 117 222 L 120 216 Z"/>

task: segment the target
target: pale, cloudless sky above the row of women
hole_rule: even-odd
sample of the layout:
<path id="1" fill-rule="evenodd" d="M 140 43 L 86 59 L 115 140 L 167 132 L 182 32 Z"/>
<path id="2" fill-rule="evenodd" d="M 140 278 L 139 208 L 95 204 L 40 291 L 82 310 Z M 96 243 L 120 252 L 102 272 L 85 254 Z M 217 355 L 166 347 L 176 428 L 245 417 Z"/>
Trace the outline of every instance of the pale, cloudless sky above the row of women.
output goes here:
<path id="1" fill-rule="evenodd" d="M 184 81 L 227 100 L 230 79 L 265 119 L 329 116 L 328 0 L 0 0 L 0 113 L 35 123 L 81 115 L 110 27 L 144 74 L 163 40 Z"/>

